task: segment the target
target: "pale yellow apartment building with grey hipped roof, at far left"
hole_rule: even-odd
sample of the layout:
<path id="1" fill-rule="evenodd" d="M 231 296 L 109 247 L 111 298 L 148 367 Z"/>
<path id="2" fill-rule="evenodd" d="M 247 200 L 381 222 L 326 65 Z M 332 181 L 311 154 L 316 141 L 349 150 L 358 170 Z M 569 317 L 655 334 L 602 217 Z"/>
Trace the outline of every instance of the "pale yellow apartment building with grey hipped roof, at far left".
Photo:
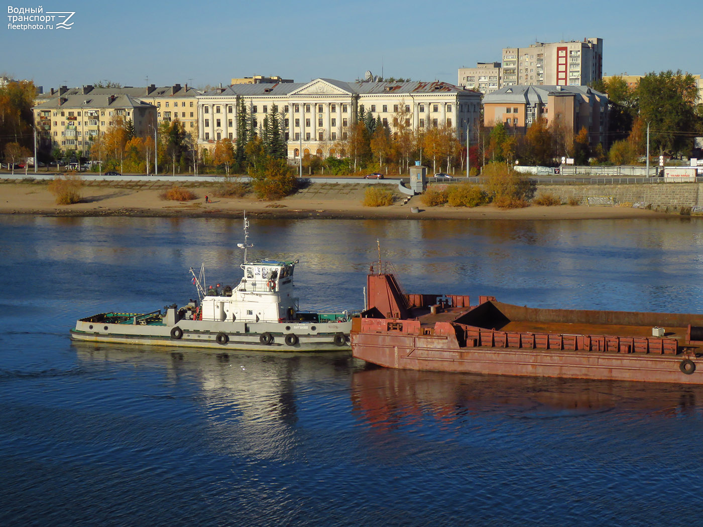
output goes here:
<path id="1" fill-rule="evenodd" d="M 45 100 L 32 108 L 37 124 L 37 147 L 49 152 L 85 151 L 93 138 L 122 117 L 144 136 L 156 119 L 156 107 L 129 95 L 71 95 Z"/>

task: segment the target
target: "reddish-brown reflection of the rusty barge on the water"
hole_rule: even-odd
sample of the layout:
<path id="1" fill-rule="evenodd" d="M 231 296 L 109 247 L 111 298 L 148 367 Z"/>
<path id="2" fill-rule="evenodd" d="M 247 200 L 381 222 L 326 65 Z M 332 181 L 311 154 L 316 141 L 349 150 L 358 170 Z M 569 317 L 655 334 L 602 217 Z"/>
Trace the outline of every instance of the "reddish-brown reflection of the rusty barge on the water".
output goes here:
<path id="1" fill-rule="evenodd" d="M 375 429 L 426 416 L 454 422 L 497 413 L 525 418 L 579 417 L 614 408 L 676 417 L 702 412 L 703 387 L 557 379 L 375 367 L 352 373 L 352 405 Z"/>

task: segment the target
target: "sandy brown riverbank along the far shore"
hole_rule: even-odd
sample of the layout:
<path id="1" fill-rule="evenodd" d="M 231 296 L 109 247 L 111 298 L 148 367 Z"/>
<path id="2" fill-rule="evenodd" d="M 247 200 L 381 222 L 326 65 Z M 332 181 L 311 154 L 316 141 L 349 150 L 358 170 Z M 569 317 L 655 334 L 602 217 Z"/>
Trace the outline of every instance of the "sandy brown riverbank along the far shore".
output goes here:
<path id="1" fill-rule="evenodd" d="M 214 197 L 212 184 L 186 183 L 197 195 L 186 202 L 162 200 L 170 188 L 164 181 L 89 181 L 82 188 L 82 201 L 57 205 L 49 186 L 43 181 L 6 181 L 0 184 L 0 214 L 37 216 L 145 216 L 230 218 L 243 211 L 252 216 L 271 218 L 321 219 L 620 219 L 667 216 L 663 212 L 618 206 L 560 205 L 531 206 L 524 209 L 498 209 L 485 205 L 463 207 L 424 207 L 418 196 L 406 202 L 399 196 L 389 207 L 364 207 L 366 186 L 356 184 L 313 183 L 292 196 L 273 202 L 242 198 Z M 205 203 L 205 195 L 212 202 Z M 413 209 L 418 212 L 413 212 Z"/>

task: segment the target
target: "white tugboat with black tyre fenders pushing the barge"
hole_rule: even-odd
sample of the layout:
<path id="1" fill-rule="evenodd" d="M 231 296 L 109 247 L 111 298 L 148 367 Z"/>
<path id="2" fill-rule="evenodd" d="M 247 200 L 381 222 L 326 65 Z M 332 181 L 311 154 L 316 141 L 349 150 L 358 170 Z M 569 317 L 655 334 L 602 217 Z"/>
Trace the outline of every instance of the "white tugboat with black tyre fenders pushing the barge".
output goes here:
<path id="1" fill-rule="evenodd" d="M 198 301 L 151 313 L 100 313 L 77 321 L 74 340 L 259 351 L 349 349 L 352 320 L 342 313 L 302 312 L 293 296 L 298 261 L 247 261 L 249 223 L 244 219 L 244 276 L 236 287 L 205 289 L 205 264 L 193 275 Z"/>

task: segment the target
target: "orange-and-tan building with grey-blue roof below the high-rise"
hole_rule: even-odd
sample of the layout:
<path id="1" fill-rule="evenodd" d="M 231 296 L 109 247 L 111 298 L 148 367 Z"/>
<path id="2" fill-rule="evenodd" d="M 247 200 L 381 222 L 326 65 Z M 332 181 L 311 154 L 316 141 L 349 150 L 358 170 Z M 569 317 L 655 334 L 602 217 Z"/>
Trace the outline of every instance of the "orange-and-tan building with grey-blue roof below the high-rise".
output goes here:
<path id="1" fill-rule="evenodd" d="M 591 145 L 607 144 L 608 99 L 588 86 L 505 86 L 484 96 L 484 126 L 502 122 L 512 134 L 524 134 L 536 119 L 559 122 L 578 134 L 586 127 Z"/>

